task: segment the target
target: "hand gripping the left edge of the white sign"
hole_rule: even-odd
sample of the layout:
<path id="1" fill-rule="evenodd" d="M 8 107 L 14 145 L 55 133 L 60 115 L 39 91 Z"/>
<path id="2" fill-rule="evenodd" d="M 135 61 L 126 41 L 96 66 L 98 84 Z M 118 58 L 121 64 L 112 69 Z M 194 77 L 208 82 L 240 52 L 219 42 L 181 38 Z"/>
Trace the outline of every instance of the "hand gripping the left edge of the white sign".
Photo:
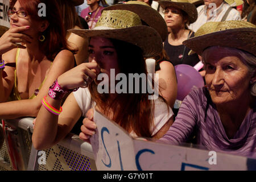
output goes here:
<path id="1" fill-rule="evenodd" d="M 85 142 L 90 143 L 90 136 L 95 134 L 96 130 L 96 124 L 93 122 L 93 109 L 89 109 L 86 113 L 86 118 L 84 118 L 84 121 L 82 121 L 81 126 L 81 133 L 79 135 L 79 138 L 81 140 L 84 140 Z"/>

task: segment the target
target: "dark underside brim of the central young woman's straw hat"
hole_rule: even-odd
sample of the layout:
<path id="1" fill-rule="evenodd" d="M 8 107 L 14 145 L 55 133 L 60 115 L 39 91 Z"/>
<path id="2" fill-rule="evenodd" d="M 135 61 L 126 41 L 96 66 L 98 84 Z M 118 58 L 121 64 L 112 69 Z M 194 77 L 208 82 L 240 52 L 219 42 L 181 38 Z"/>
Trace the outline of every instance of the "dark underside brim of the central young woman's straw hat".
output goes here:
<path id="1" fill-rule="evenodd" d="M 82 38 L 101 36 L 104 38 L 122 40 L 140 47 L 144 57 L 159 55 L 163 49 L 162 39 L 158 32 L 148 26 L 133 26 L 129 28 L 107 29 L 107 30 L 68 30 Z M 127 50 L 129 53 L 129 50 Z M 132 52 L 131 52 L 132 53 Z"/>

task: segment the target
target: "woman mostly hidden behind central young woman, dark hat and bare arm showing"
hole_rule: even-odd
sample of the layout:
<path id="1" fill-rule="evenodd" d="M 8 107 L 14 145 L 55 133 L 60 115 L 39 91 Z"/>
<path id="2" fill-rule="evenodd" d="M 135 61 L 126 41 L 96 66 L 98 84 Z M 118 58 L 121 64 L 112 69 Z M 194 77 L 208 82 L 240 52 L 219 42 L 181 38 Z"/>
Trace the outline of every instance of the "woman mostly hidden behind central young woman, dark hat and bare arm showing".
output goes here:
<path id="1" fill-rule="evenodd" d="M 147 5 L 147 3 L 139 1 L 128 1 L 125 4 L 106 7 L 102 11 L 105 10 L 132 11 L 139 15 L 139 18 L 141 18 L 143 25 L 150 26 L 158 31 L 163 42 L 167 38 L 168 31 L 166 22 L 164 22 L 164 19 L 158 13 L 158 11 L 152 9 L 150 6 Z M 173 107 L 177 96 L 177 81 L 175 69 L 171 61 L 163 58 L 163 52 L 160 53 L 160 55 L 154 57 L 154 59 L 156 60 L 155 73 L 159 74 L 160 95 L 164 97 L 164 99 L 171 107 Z"/>

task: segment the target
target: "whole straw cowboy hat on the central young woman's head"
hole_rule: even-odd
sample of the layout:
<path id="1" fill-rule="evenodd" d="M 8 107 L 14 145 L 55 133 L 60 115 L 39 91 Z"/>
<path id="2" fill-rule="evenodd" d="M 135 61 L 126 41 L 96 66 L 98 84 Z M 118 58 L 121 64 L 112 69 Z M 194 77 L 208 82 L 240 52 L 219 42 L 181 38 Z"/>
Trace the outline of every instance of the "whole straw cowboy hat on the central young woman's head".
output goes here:
<path id="1" fill-rule="evenodd" d="M 68 31 L 83 38 L 102 36 L 135 44 L 142 49 L 144 57 L 156 56 L 163 49 L 163 42 L 158 32 L 152 27 L 143 26 L 139 16 L 127 10 L 103 11 L 93 30 Z"/>

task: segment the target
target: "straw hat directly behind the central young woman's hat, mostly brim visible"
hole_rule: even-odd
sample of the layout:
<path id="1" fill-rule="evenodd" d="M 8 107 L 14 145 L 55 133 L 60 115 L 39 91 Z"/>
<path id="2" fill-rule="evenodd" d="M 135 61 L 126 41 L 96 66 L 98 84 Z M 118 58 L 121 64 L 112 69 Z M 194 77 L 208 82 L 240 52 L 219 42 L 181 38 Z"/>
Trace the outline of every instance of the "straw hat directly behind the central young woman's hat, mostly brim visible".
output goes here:
<path id="1" fill-rule="evenodd" d="M 119 4 L 119 5 L 105 7 L 105 9 L 103 9 L 102 11 L 105 11 L 105 10 L 133 11 L 133 13 L 136 13 L 137 15 L 139 15 L 139 18 L 141 18 L 141 20 L 144 23 L 146 23 L 147 26 L 155 28 L 155 30 L 158 31 L 163 42 L 167 38 L 168 29 L 167 29 L 167 25 L 166 25 L 166 22 L 164 21 L 163 17 L 158 13 L 158 11 L 156 11 L 155 9 L 152 9 L 152 7 L 149 6 L 145 2 L 128 1 L 125 4 Z"/>

